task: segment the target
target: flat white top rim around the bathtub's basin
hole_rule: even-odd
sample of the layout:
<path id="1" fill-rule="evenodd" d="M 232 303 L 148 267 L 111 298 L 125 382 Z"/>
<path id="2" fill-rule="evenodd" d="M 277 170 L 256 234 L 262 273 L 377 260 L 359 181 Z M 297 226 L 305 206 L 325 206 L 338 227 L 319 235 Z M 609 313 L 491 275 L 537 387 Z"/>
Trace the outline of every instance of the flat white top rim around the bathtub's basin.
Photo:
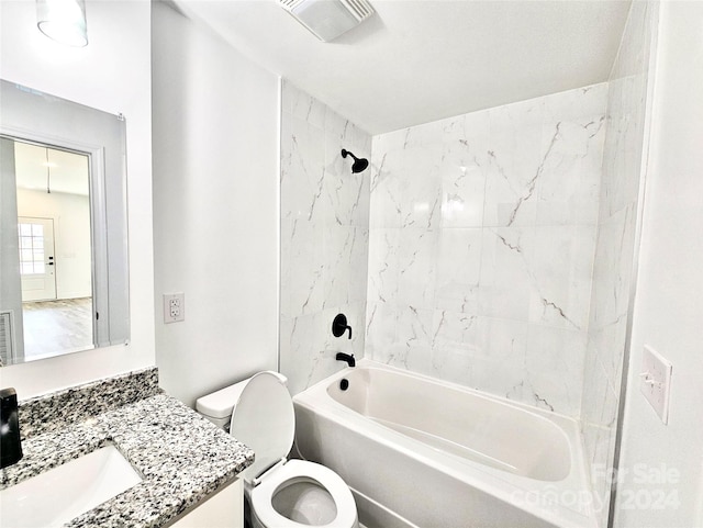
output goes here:
<path id="1" fill-rule="evenodd" d="M 569 475 L 561 481 L 537 481 L 527 476 L 522 476 L 513 473 L 507 473 L 499 469 L 490 468 L 480 462 L 471 460 L 459 461 L 456 464 L 458 458 L 450 453 L 443 453 L 434 450 L 434 448 L 422 445 L 420 440 L 415 440 L 406 437 L 402 432 L 395 431 L 388 427 L 382 426 L 370 420 L 368 417 L 357 413 L 356 411 L 347 407 L 334 400 L 328 393 L 327 387 L 349 374 L 354 370 L 360 369 L 380 369 L 388 370 L 400 375 L 408 375 L 417 378 L 428 383 L 449 386 L 454 390 L 462 393 L 470 394 L 475 397 L 498 402 L 507 406 L 517 407 L 531 415 L 539 418 L 547 419 L 559 427 L 562 434 L 566 436 L 569 450 L 571 454 L 571 468 Z M 319 414 L 320 416 L 330 419 L 338 424 L 359 424 L 367 425 L 371 431 L 379 431 L 378 436 L 373 436 L 375 441 L 382 443 L 386 447 L 398 449 L 404 456 L 411 457 L 424 464 L 434 467 L 439 471 L 443 471 L 454 479 L 457 479 L 468 485 L 475 486 L 483 492 L 490 493 L 499 498 L 521 507 L 536 517 L 543 518 L 548 523 L 556 523 L 559 526 L 569 527 L 595 527 L 595 513 L 592 505 L 580 504 L 578 507 L 570 507 L 568 505 L 559 504 L 555 501 L 546 501 L 549 503 L 549 507 L 535 507 L 528 504 L 526 501 L 524 504 L 518 504 L 514 501 L 516 492 L 524 493 L 527 497 L 534 496 L 534 494 L 551 494 L 555 493 L 587 493 L 589 497 L 592 497 L 591 486 L 588 484 L 589 472 L 585 461 L 583 447 L 581 443 L 579 422 L 574 418 L 553 413 L 550 411 L 540 409 L 529 406 L 521 402 L 514 402 L 512 400 L 488 394 L 471 387 L 459 385 L 453 382 L 445 382 L 436 378 L 432 378 L 426 374 L 405 371 L 395 367 L 379 363 L 369 359 L 360 359 L 357 361 L 357 367 L 346 367 L 335 374 L 332 374 L 317 383 L 311 385 L 305 391 L 293 396 L 293 404 L 295 406 L 302 406 L 308 411 Z M 370 435 L 369 435 L 370 436 Z M 417 449 L 417 446 L 421 446 Z M 300 452 L 300 448 L 295 446 L 299 454 L 304 458 L 304 453 Z M 415 449 L 413 449 L 415 448 Z M 454 463 L 453 463 L 454 462 Z M 472 474 L 470 471 L 461 471 L 464 468 L 470 468 L 476 470 L 478 474 Z M 544 495 L 543 495 L 544 496 Z"/>

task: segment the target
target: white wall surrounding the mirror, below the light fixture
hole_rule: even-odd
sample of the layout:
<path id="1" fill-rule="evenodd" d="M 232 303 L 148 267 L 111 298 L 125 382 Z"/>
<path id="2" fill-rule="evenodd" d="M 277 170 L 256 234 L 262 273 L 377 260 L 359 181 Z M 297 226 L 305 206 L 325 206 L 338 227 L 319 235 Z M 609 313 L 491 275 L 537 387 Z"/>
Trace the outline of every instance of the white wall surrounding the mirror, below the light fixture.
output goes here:
<path id="1" fill-rule="evenodd" d="M 127 128 L 131 342 L 0 369 L 20 398 L 153 366 L 149 2 L 86 2 L 89 45 L 69 48 L 36 29 L 33 1 L 0 2 L 0 77 L 111 113 Z"/>

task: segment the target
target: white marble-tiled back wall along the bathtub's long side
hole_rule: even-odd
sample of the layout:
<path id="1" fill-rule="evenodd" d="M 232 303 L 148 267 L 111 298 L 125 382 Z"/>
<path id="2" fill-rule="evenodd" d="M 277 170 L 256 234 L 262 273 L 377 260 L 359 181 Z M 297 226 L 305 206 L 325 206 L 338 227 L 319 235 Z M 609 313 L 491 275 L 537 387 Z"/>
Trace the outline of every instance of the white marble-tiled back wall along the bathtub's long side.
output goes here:
<path id="1" fill-rule="evenodd" d="M 373 137 L 367 357 L 579 415 L 606 97 Z"/>

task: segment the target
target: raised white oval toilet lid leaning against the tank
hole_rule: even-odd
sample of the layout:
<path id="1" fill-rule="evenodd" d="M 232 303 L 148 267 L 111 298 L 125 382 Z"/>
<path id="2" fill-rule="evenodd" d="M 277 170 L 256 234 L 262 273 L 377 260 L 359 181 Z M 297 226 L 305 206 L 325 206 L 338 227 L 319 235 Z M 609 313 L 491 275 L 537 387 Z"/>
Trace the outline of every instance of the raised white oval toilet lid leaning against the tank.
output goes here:
<path id="1" fill-rule="evenodd" d="M 255 461 L 244 471 L 252 482 L 288 456 L 295 434 L 295 413 L 288 387 L 272 372 L 254 375 L 232 413 L 230 432 L 252 448 Z"/>

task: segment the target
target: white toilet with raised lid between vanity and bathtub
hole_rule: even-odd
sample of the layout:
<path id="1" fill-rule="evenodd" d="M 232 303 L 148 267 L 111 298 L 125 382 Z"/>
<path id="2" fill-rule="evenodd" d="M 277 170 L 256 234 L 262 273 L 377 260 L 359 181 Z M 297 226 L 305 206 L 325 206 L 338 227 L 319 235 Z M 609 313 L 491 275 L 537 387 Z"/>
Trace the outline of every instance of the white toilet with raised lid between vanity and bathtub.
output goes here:
<path id="1" fill-rule="evenodd" d="M 284 375 L 258 374 L 198 398 L 196 408 L 256 454 L 244 473 L 255 528 L 358 528 L 356 503 L 342 478 L 324 465 L 287 460 L 295 434 Z"/>

